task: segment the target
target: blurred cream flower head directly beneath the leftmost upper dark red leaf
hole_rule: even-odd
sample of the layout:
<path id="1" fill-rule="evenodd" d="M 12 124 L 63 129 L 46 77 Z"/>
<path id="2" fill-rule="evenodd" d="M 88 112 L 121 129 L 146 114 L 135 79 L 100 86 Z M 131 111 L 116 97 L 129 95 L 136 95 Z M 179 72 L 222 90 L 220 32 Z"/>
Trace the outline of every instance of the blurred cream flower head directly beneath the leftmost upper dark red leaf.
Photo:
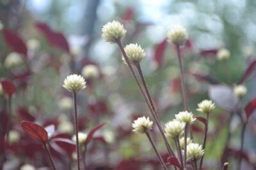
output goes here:
<path id="1" fill-rule="evenodd" d="M 19 66 L 22 63 L 23 63 L 23 60 L 20 53 L 12 52 L 12 53 L 9 53 L 6 59 L 4 60 L 4 67 L 12 68 L 12 67 Z"/>

